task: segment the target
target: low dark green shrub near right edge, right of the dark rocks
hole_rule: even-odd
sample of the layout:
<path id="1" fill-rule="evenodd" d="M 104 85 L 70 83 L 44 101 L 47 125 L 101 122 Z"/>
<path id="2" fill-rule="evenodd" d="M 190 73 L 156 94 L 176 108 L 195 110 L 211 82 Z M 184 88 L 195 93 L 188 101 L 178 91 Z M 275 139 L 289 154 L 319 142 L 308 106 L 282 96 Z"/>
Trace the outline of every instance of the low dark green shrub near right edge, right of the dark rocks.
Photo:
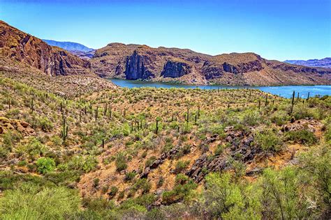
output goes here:
<path id="1" fill-rule="evenodd" d="M 318 141 L 314 135 L 314 132 L 311 132 L 307 129 L 286 132 L 285 139 L 286 141 L 295 141 L 297 143 L 302 143 L 308 146 Z"/>

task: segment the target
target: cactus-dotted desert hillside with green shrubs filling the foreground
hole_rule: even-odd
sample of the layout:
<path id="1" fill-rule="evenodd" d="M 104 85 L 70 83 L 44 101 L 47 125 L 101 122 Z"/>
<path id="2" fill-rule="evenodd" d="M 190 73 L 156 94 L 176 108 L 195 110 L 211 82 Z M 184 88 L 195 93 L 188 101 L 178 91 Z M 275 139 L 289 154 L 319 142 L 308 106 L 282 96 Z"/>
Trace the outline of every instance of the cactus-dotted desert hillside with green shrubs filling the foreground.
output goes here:
<path id="1" fill-rule="evenodd" d="M 0 76 L 3 219 L 330 217 L 328 96 L 33 80 Z"/>

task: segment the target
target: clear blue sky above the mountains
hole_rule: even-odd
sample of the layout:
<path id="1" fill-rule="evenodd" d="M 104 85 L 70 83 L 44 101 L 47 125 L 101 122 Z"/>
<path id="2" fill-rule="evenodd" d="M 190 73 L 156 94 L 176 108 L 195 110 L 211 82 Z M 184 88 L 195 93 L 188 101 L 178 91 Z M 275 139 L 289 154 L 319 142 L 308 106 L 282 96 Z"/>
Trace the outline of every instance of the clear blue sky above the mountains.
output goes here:
<path id="1" fill-rule="evenodd" d="M 0 19 L 38 38 L 255 52 L 280 61 L 330 57 L 330 14 L 331 0 L 0 0 Z"/>

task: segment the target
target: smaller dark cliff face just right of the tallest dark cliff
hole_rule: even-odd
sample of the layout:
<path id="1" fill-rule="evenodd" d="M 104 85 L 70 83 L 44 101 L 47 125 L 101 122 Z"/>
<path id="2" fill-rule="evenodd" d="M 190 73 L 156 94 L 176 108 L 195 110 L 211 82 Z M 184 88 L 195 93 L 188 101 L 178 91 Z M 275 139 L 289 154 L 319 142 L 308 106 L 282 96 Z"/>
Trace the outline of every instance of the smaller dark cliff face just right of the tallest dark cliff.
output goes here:
<path id="1" fill-rule="evenodd" d="M 178 78 L 191 72 L 191 66 L 180 61 L 167 61 L 161 72 L 163 77 Z"/>

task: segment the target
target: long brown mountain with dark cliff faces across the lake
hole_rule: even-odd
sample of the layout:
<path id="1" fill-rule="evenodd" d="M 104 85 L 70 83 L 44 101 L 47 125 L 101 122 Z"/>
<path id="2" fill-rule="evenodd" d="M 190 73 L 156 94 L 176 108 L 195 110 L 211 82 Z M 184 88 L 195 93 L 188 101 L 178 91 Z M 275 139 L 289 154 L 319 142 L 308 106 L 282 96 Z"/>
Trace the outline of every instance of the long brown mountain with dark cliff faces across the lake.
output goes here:
<path id="1" fill-rule="evenodd" d="M 189 84 L 331 84 L 331 69 L 269 61 L 253 53 L 209 56 L 189 49 L 121 43 L 97 49 L 91 68 L 101 77 Z"/>

